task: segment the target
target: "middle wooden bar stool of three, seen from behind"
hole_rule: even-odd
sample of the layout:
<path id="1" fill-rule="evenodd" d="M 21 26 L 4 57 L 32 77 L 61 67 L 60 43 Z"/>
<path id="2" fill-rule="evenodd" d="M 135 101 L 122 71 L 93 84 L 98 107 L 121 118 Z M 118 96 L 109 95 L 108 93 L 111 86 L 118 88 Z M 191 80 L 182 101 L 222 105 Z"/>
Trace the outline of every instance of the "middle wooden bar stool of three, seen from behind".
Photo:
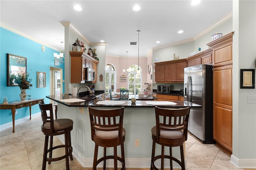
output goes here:
<path id="1" fill-rule="evenodd" d="M 124 107 L 118 109 L 95 109 L 89 108 L 91 136 L 95 142 L 93 170 L 103 162 L 103 169 L 106 170 L 106 160 L 114 159 L 114 170 L 117 170 L 117 160 L 122 163 L 121 170 L 125 170 L 124 141 L 125 129 L 123 128 Z M 121 158 L 117 156 L 117 146 L 121 145 Z M 104 147 L 103 157 L 97 160 L 98 147 Z M 106 148 L 114 147 L 114 156 L 106 156 Z"/>

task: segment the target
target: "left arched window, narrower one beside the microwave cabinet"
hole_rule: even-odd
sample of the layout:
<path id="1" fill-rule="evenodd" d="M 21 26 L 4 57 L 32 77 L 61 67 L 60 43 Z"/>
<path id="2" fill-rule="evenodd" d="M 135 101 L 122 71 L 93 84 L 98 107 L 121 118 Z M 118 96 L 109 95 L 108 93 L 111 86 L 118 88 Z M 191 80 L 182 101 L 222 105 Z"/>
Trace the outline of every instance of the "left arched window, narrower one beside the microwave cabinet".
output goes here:
<path id="1" fill-rule="evenodd" d="M 106 95 L 109 95 L 109 89 L 116 92 L 116 70 L 112 64 L 107 64 L 105 68 L 105 75 L 106 75 Z"/>

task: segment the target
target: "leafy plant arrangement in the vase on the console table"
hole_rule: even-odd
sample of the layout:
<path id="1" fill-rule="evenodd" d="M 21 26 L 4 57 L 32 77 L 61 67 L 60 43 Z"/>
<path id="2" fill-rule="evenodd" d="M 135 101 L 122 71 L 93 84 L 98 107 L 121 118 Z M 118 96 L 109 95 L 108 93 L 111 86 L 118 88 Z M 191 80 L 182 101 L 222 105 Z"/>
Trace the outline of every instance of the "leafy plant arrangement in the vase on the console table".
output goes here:
<path id="1" fill-rule="evenodd" d="M 18 73 L 18 75 L 14 77 L 14 83 L 18 84 L 20 89 L 29 89 L 29 87 L 32 87 L 32 84 L 30 84 L 32 78 L 28 79 L 28 77 L 29 73 Z"/>

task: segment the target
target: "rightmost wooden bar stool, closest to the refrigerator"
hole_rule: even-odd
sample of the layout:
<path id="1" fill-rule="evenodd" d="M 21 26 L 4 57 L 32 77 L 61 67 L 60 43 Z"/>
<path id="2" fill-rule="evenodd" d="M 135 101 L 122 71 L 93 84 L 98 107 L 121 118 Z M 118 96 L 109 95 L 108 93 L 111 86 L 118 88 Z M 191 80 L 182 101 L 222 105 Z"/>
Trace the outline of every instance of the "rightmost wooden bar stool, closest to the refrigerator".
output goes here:
<path id="1" fill-rule="evenodd" d="M 170 169 L 172 170 L 172 160 L 177 162 L 182 170 L 185 170 L 183 144 L 188 138 L 188 117 L 190 107 L 180 109 L 168 109 L 155 107 L 156 126 L 152 132 L 152 156 L 150 170 L 158 170 L 154 162 L 161 159 L 161 170 L 164 170 L 164 158 L 170 159 Z M 161 155 L 155 156 L 156 143 L 162 146 Z M 168 146 L 170 156 L 164 154 L 164 146 Z M 181 161 L 172 156 L 172 147 L 180 146 Z"/>

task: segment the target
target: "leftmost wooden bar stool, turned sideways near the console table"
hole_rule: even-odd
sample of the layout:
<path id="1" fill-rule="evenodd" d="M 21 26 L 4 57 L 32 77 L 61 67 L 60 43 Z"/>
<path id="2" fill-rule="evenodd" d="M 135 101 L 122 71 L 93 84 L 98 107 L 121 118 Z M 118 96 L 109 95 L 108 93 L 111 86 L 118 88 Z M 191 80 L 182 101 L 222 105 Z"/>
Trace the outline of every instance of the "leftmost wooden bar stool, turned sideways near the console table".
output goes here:
<path id="1" fill-rule="evenodd" d="M 42 132 L 45 134 L 45 140 L 44 140 L 44 158 L 43 158 L 43 164 L 42 164 L 42 170 L 46 169 L 46 161 L 48 161 L 48 164 L 50 164 L 53 161 L 66 159 L 66 169 L 69 170 L 69 160 L 68 157 L 70 157 L 70 160 L 73 160 L 72 151 L 73 148 L 71 146 L 71 137 L 70 137 L 70 131 L 73 129 L 73 121 L 71 119 L 55 119 L 53 117 L 53 109 L 52 104 L 42 104 L 39 103 L 39 107 L 41 110 L 41 116 L 42 116 Z M 47 113 L 50 113 L 50 115 L 47 115 Z M 58 146 L 52 146 L 53 144 L 53 136 L 64 134 L 65 135 L 65 144 L 58 145 Z M 50 146 L 48 149 L 48 140 L 50 136 Z M 52 152 L 54 149 L 57 148 L 65 148 L 65 155 L 52 158 Z M 49 153 L 49 157 L 47 157 L 47 154 Z"/>

